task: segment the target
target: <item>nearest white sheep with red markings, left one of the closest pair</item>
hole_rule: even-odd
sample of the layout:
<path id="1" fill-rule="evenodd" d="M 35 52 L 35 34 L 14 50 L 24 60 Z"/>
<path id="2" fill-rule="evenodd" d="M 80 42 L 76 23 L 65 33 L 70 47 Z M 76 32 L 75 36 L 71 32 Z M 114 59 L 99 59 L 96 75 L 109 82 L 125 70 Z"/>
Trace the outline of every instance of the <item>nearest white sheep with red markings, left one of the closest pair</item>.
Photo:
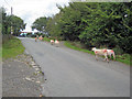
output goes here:
<path id="1" fill-rule="evenodd" d="M 102 56 L 105 56 L 105 61 L 107 61 L 109 63 L 108 51 L 107 50 L 105 50 L 105 48 L 103 50 L 97 50 L 96 47 L 94 47 L 92 51 L 95 52 L 96 59 L 97 59 L 98 55 L 102 55 Z"/>

